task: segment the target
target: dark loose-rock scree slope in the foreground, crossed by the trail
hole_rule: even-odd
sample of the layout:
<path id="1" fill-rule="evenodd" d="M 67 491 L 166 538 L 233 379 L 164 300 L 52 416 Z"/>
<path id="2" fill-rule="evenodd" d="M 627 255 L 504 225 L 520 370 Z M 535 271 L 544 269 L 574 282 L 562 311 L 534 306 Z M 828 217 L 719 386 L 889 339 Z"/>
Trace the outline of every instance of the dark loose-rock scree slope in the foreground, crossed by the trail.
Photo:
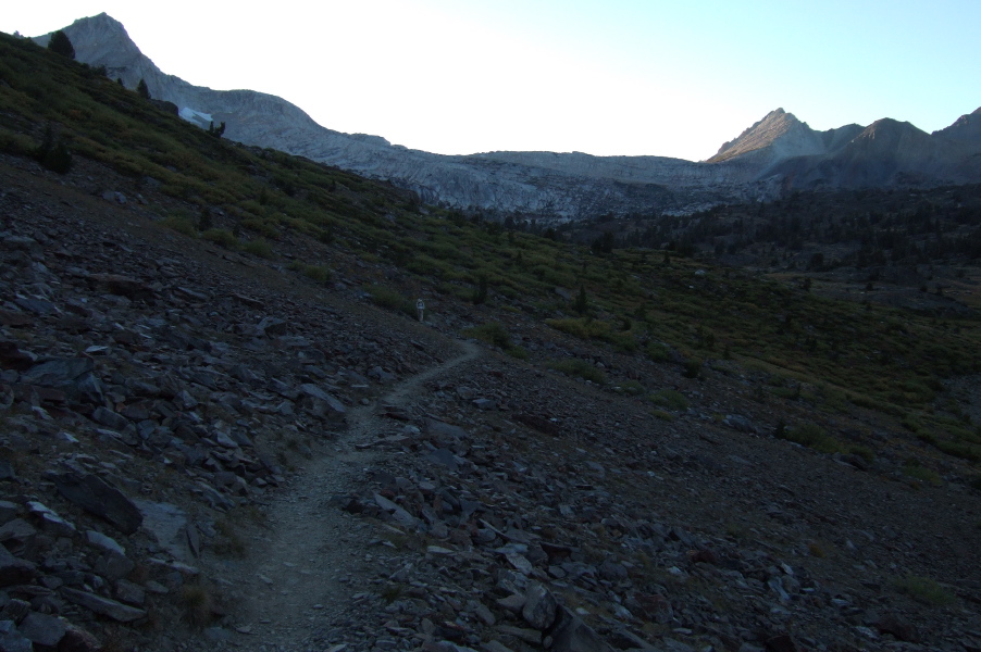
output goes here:
<path id="1" fill-rule="evenodd" d="M 461 346 L 492 309 L 371 310 L 350 288 L 383 264 L 278 242 L 345 269 L 318 286 L 84 160 L 0 178 L 5 649 L 981 649 L 964 467 L 777 440 L 808 405 L 723 361 L 686 378 L 517 313 L 531 363 Z"/>

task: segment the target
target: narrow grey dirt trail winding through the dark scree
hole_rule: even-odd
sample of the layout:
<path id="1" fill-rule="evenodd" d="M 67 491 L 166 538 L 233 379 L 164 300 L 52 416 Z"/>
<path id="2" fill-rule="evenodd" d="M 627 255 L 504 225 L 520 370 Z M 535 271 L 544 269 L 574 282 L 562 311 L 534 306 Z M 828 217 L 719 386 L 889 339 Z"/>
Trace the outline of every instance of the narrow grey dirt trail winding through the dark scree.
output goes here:
<path id="1" fill-rule="evenodd" d="M 248 556 L 225 562 L 219 581 L 231 584 L 228 593 L 238 602 L 237 649 L 294 652 L 335 642 L 331 624 L 357 604 L 360 592 L 371 590 L 372 579 L 390 572 L 398 554 L 382 543 L 378 526 L 345 514 L 330 500 L 363 481 L 365 468 L 384 454 L 357 448 L 393 428 L 378 408 L 408 408 L 423 384 L 480 356 L 476 344 L 459 344 L 461 354 L 395 385 L 373 405 L 351 410 L 348 429 L 318 451 L 269 505 L 269 522 L 257 528 Z"/>

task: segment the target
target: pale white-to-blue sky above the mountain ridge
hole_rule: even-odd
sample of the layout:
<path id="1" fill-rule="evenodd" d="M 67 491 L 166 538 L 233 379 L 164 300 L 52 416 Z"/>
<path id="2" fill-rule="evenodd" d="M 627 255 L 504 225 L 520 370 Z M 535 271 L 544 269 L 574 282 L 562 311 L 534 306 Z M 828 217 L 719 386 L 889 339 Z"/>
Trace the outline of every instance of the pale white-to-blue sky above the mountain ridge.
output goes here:
<path id="1" fill-rule="evenodd" d="M 933 131 L 981 105 L 981 0 L 33 0 L 0 30 L 103 11 L 165 73 L 444 154 L 697 161 L 777 108 Z"/>

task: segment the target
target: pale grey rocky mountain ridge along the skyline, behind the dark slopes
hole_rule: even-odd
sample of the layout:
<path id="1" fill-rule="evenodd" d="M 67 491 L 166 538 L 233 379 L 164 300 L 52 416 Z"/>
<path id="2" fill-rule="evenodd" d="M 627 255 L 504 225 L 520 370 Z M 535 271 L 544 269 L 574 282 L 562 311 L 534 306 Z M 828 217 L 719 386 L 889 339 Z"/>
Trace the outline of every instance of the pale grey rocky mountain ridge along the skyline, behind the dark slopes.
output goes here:
<path id="1" fill-rule="evenodd" d="M 185 120 L 201 127 L 224 122 L 226 138 L 386 179 L 414 190 L 425 202 L 461 209 L 580 220 L 690 212 L 719 202 L 771 199 L 787 188 L 981 181 L 978 111 L 931 136 L 889 120 L 868 128 L 816 131 L 778 109 L 701 163 L 580 152 L 446 156 L 393 146 L 378 136 L 324 128 L 275 96 L 193 86 L 163 73 L 123 25 L 104 13 L 80 18 L 64 32 L 79 61 L 104 65 L 110 77 L 129 88 L 145 79 L 156 99 L 173 102 Z M 44 45 L 47 38 L 36 40 Z"/>

